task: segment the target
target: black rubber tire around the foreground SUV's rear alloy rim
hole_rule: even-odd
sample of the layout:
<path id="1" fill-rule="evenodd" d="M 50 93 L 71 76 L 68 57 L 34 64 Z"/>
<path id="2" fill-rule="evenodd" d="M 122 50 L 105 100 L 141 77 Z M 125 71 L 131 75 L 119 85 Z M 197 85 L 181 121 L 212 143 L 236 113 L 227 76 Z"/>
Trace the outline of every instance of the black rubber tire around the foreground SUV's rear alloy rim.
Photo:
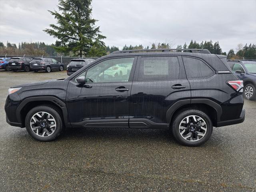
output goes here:
<path id="1" fill-rule="evenodd" d="M 204 132 L 204 136 L 202 136 L 202 138 L 200 138 L 199 140 L 196 140 L 196 138 L 195 138 L 194 141 L 189 141 L 181 136 L 180 132 L 182 132 L 182 129 L 180 130 L 180 123 L 182 123 L 182 120 L 184 120 L 188 116 L 198 116 L 198 117 L 202 118 L 202 120 L 204 120 L 204 122 L 206 123 L 206 128 L 207 128 L 206 131 L 200 130 L 201 126 L 198 126 L 198 129 L 200 131 Z M 197 125 L 197 124 L 195 124 L 195 125 Z M 192 126 L 192 128 L 194 129 L 194 125 Z M 200 110 L 187 109 L 187 110 L 183 110 L 183 111 L 179 112 L 174 117 L 174 120 L 172 121 L 172 124 L 171 124 L 171 131 L 172 131 L 172 135 L 174 136 L 174 138 L 181 144 L 186 145 L 186 146 L 199 146 L 199 145 L 204 144 L 206 141 L 208 141 L 210 136 L 212 135 L 212 121 L 210 120 L 210 118 L 207 114 L 205 114 L 204 112 L 202 112 Z M 190 133 L 190 132 L 191 132 L 191 134 L 195 134 L 194 132 L 190 131 L 189 126 L 186 126 L 186 132 L 184 132 L 184 134 Z M 199 136 L 199 137 L 201 137 L 201 136 Z M 191 139 L 192 138 L 193 138 L 193 136 L 191 137 Z"/>

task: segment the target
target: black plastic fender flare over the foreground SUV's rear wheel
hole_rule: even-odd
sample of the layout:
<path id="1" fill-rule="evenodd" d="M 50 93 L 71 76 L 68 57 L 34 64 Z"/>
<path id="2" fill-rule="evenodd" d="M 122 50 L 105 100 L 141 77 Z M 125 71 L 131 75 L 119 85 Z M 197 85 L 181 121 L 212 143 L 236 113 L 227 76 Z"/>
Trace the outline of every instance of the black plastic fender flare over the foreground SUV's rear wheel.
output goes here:
<path id="1" fill-rule="evenodd" d="M 208 106 L 211 106 L 214 108 L 217 114 L 217 122 L 220 121 L 220 117 L 222 114 L 222 108 L 219 104 L 216 102 L 210 100 L 210 99 L 186 99 L 186 100 L 179 100 L 176 103 L 174 103 L 166 112 L 166 122 L 170 123 L 172 120 L 172 116 L 176 110 L 178 110 L 180 107 L 186 105 L 186 104 L 206 104 Z"/>

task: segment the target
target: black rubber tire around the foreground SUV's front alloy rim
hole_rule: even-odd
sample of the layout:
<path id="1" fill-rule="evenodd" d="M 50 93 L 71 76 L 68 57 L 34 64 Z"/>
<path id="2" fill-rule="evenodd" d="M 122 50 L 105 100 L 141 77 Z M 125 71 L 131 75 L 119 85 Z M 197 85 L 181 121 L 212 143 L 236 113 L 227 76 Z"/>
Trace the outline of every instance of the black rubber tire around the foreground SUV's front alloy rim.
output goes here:
<path id="1" fill-rule="evenodd" d="M 49 136 L 39 136 L 38 134 L 36 134 L 32 130 L 32 128 L 30 126 L 30 121 L 32 121 L 32 116 L 34 116 L 34 114 L 36 114 L 38 112 L 46 112 L 46 113 L 50 114 L 56 121 L 55 130 Z M 40 120 L 40 118 L 38 118 L 38 120 Z M 50 126 L 51 124 L 48 124 L 48 125 Z M 28 114 L 26 116 L 26 119 L 25 119 L 25 126 L 26 126 L 26 130 L 28 131 L 30 136 L 32 136 L 32 138 L 34 138 L 38 141 L 52 141 L 52 140 L 55 140 L 62 133 L 62 131 L 64 130 L 63 124 L 62 124 L 62 118 L 61 118 L 60 114 L 54 108 L 52 108 L 50 106 L 43 106 L 43 105 L 32 108 L 28 112 Z M 44 129 L 40 128 L 40 131 L 44 132 Z"/>

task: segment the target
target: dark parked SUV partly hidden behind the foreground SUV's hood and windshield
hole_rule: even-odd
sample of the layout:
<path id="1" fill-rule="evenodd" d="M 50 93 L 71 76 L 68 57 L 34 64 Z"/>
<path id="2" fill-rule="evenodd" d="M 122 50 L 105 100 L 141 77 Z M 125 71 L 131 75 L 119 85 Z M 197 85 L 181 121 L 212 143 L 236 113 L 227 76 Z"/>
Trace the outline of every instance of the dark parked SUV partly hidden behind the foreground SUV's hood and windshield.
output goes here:
<path id="1" fill-rule="evenodd" d="M 67 65 L 67 74 L 71 75 L 80 68 L 88 65 L 93 61 L 94 59 L 72 59 L 70 60 L 70 63 Z"/>

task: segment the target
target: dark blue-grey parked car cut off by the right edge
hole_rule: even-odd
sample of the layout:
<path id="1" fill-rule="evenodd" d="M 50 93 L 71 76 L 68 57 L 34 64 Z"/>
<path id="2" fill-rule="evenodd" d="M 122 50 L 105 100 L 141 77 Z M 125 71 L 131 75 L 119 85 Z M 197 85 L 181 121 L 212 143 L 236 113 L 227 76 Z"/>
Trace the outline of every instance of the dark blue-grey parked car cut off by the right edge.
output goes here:
<path id="1" fill-rule="evenodd" d="M 228 60 L 234 74 L 244 81 L 244 97 L 256 100 L 256 60 Z"/>

